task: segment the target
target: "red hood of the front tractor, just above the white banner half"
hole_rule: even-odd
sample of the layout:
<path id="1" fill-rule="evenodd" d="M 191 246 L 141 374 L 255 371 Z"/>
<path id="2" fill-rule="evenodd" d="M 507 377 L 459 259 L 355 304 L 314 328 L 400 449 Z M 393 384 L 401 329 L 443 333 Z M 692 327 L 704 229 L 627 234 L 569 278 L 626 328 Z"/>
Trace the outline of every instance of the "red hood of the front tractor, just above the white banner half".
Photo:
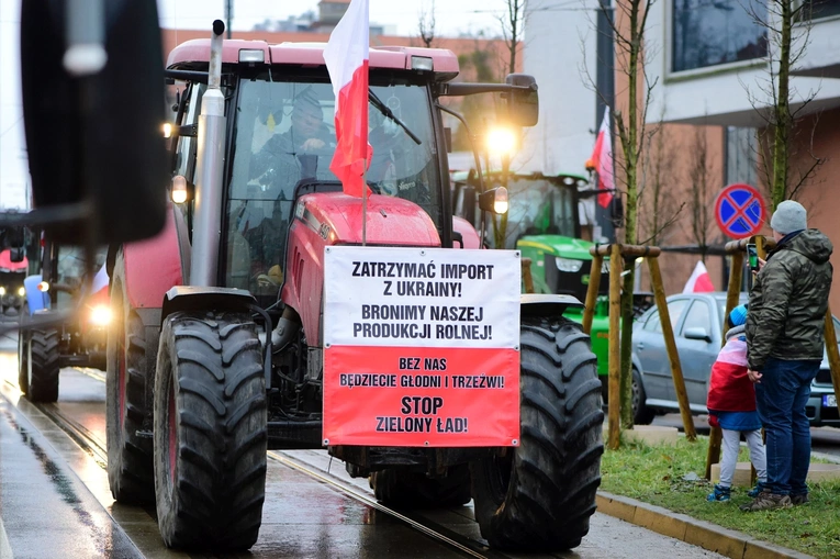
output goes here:
<path id="1" fill-rule="evenodd" d="M 341 192 L 306 194 L 294 209 L 298 220 L 327 244 L 361 244 L 362 201 Z M 367 242 L 371 245 L 440 246 L 434 222 L 417 204 L 401 198 L 368 198 Z"/>

